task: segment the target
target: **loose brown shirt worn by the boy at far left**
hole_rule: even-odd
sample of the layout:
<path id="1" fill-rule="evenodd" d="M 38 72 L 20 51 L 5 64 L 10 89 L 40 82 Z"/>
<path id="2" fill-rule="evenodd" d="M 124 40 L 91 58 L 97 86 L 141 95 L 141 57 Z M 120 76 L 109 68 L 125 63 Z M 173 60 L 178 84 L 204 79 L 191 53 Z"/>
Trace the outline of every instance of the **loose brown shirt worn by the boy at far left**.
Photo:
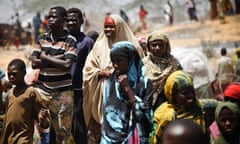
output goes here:
<path id="1" fill-rule="evenodd" d="M 33 143 L 34 121 L 38 121 L 38 112 L 41 108 L 45 107 L 40 95 L 33 87 L 27 88 L 19 96 L 15 96 L 11 89 L 0 143 Z"/>

